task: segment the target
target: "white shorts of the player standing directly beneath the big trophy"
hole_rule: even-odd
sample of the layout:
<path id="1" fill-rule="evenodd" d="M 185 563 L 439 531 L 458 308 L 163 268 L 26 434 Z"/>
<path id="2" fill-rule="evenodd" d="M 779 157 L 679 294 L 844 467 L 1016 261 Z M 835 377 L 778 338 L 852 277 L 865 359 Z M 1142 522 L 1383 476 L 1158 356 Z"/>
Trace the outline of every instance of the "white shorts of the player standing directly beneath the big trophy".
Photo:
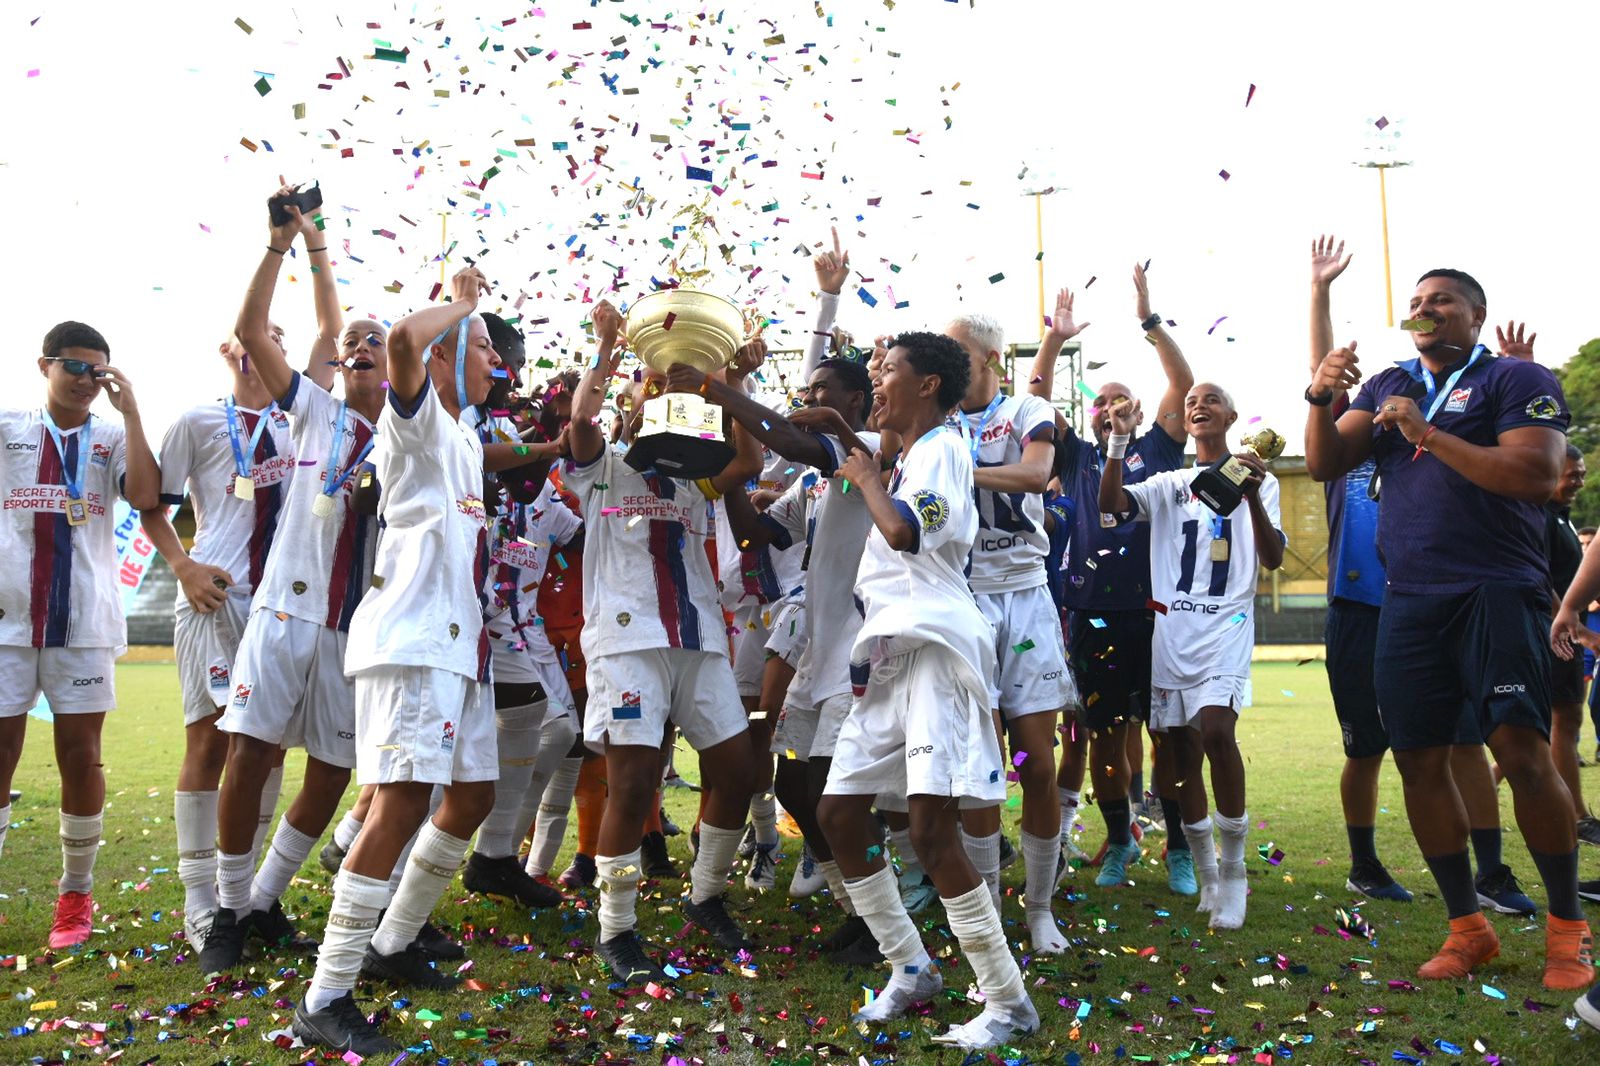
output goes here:
<path id="1" fill-rule="evenodd" d="M 667 720 L 694 751 L 706 751 L 746 730 L 744 704 L 728 659 L 715 651 L 653 648 L 589 659 L 584 743 L 603 752 L 661 747 Z"/>

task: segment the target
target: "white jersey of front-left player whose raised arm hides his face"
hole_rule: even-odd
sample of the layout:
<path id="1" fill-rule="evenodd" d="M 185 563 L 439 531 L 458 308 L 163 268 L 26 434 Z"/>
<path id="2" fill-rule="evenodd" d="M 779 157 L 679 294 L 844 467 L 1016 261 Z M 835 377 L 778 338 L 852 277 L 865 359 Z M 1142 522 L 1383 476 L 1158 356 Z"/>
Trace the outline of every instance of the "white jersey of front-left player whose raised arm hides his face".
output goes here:
<path id="1" fill-rule="evenodd" d="M 384 536 L 373 587 L 350 619 L 344 672 L 427 666 L 486 682 L 483 443 L 422 381 L 414 403 L 390 391 L 378 418 Z"/>

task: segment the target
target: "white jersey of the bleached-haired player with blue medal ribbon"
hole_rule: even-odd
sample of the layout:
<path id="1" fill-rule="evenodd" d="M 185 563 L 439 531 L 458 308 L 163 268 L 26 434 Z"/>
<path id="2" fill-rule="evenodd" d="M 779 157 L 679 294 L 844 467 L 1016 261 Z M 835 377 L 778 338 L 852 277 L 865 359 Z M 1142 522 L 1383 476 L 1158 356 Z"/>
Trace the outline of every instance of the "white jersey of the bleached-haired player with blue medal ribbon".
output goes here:
<path id="1" fill-rule="evenodd" d="M 1011 466 L 1022 461 L 1029 442 L 1050 440 L 1056 411 L 1037 395 L 1005 395 L 978 411 L 955 411 L 950 424 L 966 424 L 976 448 L 974 466 Z M 973 592 L 1014 592 L 1045 584 L 1043 493 L 997 493 L 973 488 L 978 499 L 978 538 L 973 541 Z"/>

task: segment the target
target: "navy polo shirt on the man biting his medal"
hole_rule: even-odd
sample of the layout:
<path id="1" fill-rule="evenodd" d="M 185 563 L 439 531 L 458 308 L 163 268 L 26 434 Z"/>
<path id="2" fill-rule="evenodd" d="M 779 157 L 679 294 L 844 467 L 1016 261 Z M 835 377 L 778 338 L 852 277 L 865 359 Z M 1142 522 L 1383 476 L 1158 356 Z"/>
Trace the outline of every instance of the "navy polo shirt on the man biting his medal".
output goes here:
<path id="1" fill-rule="evenodd" d="M 1496 359 L 1482 344 L 1475 355 L 1454 384 L 1456 367 L 1434 378 L 1418 359 L 1395 363 L 1362 386 L 1350 410 L 1371 415 L 1389 397 L 1408 395 L 1426 415 L 1437 400 L 1438 431 L 1480 447 L 1522 426 L 1566 431 L 1566 399 L 1549 368 Z M 1549 587 L 1544 506 L 1485 491 L 1434 455 L 1413 461 L 1414 453 L 1398 429 L 1373 424 L 1382 485 L 1378 551 L 1389 587 L 1446 595 L 1488 583 Z"/>

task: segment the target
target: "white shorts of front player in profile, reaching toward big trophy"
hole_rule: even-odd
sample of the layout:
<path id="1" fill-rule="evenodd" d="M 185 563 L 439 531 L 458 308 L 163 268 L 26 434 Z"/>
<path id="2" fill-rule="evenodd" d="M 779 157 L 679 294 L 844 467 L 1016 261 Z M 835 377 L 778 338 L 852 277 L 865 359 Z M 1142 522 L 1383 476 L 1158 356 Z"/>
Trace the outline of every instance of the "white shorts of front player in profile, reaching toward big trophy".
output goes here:
<path id="1" fill-rule="evenodd" d="M 878 663 L 838 731 L 826 794 L 1005 799 L 994 715 L 938 643 Z"/>

